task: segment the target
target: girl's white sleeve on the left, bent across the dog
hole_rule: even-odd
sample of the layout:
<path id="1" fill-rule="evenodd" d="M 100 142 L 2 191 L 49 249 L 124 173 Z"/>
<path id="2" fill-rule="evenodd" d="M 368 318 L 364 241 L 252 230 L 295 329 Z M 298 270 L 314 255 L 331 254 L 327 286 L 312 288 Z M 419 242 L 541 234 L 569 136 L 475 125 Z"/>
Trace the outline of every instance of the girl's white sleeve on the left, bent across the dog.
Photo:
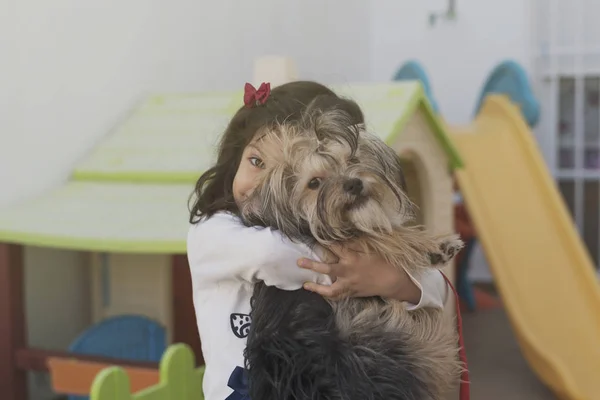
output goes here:
<path id="1" fill-rule="evenodd" d="M 326 275 L 297 266 L 302 257 L 319 261 L 308 246 L 269 228 L 246 227 L 230 214 L 218 213 L 192 225 L 187 253 L 196 287 L 233 279 L 296 290 L 308 281 L 331 282 Z"/>

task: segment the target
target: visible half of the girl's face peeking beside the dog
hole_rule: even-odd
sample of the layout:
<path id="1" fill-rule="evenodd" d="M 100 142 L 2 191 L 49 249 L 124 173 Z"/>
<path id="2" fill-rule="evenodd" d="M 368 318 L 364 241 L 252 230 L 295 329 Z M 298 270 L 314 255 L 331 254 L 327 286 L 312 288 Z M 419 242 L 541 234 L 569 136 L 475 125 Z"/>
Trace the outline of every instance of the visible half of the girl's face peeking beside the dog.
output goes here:
<path id="1" fill-rule="evenodd" d="M 233 198 L 238 208 L 252 194 L 258 184 L 258 177 L 265 168 L 256 141 L 250 142 L 244 149 L 240 166 L 233 178 Z"/>

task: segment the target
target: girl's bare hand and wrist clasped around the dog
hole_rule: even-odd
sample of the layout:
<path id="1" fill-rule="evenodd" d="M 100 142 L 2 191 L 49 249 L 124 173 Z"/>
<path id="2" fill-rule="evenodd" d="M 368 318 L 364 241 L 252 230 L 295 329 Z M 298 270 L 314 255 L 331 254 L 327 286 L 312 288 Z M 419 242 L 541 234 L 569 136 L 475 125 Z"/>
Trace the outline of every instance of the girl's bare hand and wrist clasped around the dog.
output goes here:
<path id="1" fill-rule="evenodd" d="M 347 245 L 330 249 L 339 260 L 336 263 L 321 263 L 307 258 L 298 260 L 298 266 L 329 275 L 333 284 L 304 284 L 304 289 L 324 297 L 369 297 L 381 296 L 388 299 L 418 304 L 421 289 L 415 285 L 408 273 L 389 265 L 382 257 L 357 252 Z"/>

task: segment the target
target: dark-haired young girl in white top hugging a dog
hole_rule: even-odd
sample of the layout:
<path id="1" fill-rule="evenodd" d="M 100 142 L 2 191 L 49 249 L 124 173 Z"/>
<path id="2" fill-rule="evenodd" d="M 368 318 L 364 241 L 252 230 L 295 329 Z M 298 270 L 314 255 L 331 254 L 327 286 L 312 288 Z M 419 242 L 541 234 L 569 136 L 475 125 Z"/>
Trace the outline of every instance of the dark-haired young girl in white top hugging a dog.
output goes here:
<path id="1" fill-rule="evenodd" d="M 332 249 L 339 261 L 325 264 L 307 246 L 268 228 L 245 227 L 239 204 L 251 194 L 263 161 L 258 131 L 277 121 L 296 121 L 319 96 L 364 123 L 360 108 L 323 85 L 292 82 L 268 86 L 233 116 L 219 146 L 218 159 L 199 179 L 190 213 L 187 251 L 194 307 L 206 362 L 207 400 L 246 399 L 244 348 L 250 328 L 250 298 L 259 280 L 283 290 L 304 288 L 330 298 L 381 296 L 407 303 L 409 310 L 442 308 L 447 289 L 442 275 L 428 270 L 419 279 L 381 258 Z M 251 96 L 249 96 L 251 97 Z M 246 99 L 245 99 L 246 100 Z"/>

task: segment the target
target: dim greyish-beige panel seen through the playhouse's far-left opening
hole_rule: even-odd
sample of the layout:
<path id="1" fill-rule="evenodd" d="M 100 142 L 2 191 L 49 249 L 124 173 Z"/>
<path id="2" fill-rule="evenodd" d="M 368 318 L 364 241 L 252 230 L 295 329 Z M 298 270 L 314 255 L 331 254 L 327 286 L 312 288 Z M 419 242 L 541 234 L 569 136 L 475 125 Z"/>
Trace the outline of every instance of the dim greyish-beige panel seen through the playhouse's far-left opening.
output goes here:
<path id="1" fill-rule="evenodd" d="M 66 350 L 92 320 L 88 258 L 76 251 L 27 246 L 24 265 L 28 343 Z M 30 398 L 50 398 L 48 374 L 28 375 Z"/>

